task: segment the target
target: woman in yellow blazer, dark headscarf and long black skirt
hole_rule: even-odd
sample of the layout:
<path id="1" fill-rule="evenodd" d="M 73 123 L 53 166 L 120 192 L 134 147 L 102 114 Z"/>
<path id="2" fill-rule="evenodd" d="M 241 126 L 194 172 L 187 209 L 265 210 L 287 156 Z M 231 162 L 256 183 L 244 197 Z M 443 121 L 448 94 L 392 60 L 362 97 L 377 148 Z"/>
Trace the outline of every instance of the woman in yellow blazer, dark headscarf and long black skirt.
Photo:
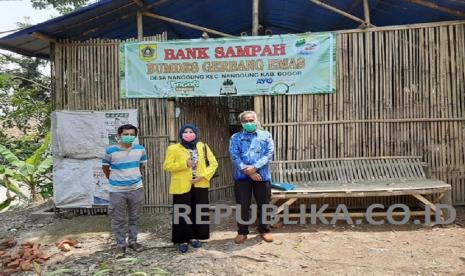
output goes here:
<path id="1" fill-rule="evenodd" d="M 186 253 L 189 243 L 199 248 L 202 245 L 199 240 L 210 238 L 210 225 L 196 223 L 199 219 L 208 221 L 209 216 L 196 220 L 196 206 L 208 204 L 210 179 L 218 168 L 218 162 L 208 145 L 199 141 L 199 132 L 194 125 L 183 125 L 179 130 L 179 139 L 179 143 L 168 147 L 163 168 L 171 173 L 169 193 L 173 195 L 173 207 L 179 204 L 173 210 L 181 213 L 185 212 L 181 205 L 190 207 L 192 223 L 187 223 L 182 216 L 175 218 L 173 212 L 172 241 L 178 245 L 181 253 Z M 208 214 L 209 208 L 201 208 L 201 211 Z"/>

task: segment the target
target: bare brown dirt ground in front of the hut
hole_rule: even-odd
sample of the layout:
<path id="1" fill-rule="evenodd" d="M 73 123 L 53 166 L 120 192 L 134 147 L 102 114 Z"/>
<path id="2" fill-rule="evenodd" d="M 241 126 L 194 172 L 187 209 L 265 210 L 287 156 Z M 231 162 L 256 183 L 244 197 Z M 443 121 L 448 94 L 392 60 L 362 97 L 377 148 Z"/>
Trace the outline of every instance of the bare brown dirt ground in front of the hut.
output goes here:
<path id="1" fill-rule="evenodd" d="M 34 219 L 30 210 L 6 212 L 0 238 L 39 242 L 52 254 L 42 275 L 465 275 L 465 208 L 457 215 L 448 227 L 284 225 L 273 229 L 273 243 L 252 233 L 242 245 L 232 240 L 231 217 L 212 226 L 203 248 L 179 254 L 170 243 L 169 215 L 146 214 L 139 240 L 148 249 L 121 260 L 112 256 L 104 215 Z M 58 250 L 64 237 L 77 239 L 77 248 Z"/>

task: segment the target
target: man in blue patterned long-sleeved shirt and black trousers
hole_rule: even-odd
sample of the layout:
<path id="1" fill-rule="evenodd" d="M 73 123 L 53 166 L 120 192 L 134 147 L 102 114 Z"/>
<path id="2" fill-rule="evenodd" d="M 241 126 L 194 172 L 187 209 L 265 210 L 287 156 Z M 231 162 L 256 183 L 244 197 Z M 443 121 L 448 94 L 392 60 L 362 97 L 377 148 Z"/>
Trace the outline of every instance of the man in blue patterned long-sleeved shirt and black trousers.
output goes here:
<path id="1" fill-rule="evenodd" d="M 262 206 L 269 204 L 270 171 L 269 163 L 273 157 L 274 143 L 271 134 L 257 129 L 257 114 L 254 111 L 244 111 L 239 115 L 242 131 L 231 137 L 229 153 L 234 163 L 234 193 L 236 203 L 240 205 L 242 222 L 250 219 L 252 193 L 257 202 L 259 214 L 258 232 L 266 242 L 272 242 L 269 233 L 270 226 L 264 223 Z M 243 243 L 249 234 L 248 225 L 237 223 L 238 235 L 234 239 L 237 244 Z"/>

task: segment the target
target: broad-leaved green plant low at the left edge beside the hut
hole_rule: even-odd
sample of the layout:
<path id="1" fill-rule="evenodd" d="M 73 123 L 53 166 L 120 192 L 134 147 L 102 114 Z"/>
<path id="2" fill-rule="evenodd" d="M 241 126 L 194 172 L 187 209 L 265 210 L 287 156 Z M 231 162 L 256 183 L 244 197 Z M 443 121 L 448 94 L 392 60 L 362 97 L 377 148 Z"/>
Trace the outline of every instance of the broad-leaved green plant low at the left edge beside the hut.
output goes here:
<path id="1" fill-rule="evenodd" d="M 27 187 L 32 201 L 36 201 L 39 194 L 42 198 L 49 197 L 51 179 L 47 176 L 47 172 L 52 168 L 53 159 L 51 156 L 46 156 L 46 151 L 50 140 L 51 134 L 48 133 L 42 145 L 25 161 L 20 160 L 13 152 L 0 145 L 0 157 L 4 159 L 4 164 L 0 165 L 0 185 L 21 199 L 25 199 L 19 189 L 21 185 Z M 7 200 L 11 202 L 11 197 Z"/>

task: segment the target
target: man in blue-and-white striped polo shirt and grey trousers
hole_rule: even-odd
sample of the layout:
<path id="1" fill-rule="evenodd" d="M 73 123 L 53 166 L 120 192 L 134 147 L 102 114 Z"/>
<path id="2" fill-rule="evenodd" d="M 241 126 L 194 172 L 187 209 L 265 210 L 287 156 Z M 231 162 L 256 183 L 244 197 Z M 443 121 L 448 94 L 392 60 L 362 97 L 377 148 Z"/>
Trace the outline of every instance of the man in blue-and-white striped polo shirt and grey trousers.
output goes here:
<path id="1" fill-rule="evenodd" d="M 136 252 L 143 250 L 142 245 L 137 243 L 137 233 L 144 202 L 140 167 L 147 162 L 147 154 L 143 146 L 133 145 L 136 136 L 135 126 L 120 126 L 118 144 L 109 146 L 102 160 L 102 170 L 110 182 L 108 213 L 116 239 L 116 258 L 123 257 L 126 253 L 126 213 L 129 228 L 128 247 Z"/>

